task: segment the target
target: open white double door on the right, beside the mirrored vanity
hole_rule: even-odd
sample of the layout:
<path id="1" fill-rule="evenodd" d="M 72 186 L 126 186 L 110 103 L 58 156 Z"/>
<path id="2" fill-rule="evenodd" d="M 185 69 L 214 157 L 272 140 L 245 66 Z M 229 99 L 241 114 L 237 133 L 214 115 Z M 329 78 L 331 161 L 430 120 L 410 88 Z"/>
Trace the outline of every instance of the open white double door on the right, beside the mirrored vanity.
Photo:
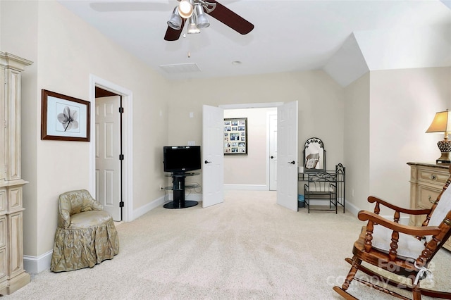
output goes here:
<path id="1" fill-rule="evenodd" d="M 297 101 L 277 109 L 277 203 L 297 211 Z"/>

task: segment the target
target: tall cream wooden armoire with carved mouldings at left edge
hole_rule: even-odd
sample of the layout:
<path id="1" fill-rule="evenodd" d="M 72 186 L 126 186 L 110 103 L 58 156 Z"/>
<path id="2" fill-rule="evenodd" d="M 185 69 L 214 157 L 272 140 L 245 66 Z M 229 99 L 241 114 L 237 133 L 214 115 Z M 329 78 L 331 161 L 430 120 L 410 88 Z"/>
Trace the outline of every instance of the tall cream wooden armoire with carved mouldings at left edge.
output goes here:
<path id="1" fill-rule="evenodd" d="M 20 73 L 32 62 L 0 51 L 0 294 L 30 282 L 23 268 Z"/>

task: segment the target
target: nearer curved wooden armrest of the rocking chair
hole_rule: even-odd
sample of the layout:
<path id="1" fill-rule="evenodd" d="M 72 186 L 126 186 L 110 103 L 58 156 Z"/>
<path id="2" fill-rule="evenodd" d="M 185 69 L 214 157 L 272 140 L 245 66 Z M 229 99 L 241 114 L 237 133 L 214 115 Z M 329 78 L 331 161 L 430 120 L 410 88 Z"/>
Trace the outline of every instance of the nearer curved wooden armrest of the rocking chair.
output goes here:
<path id="1" fill-rule="evenodd" d="M 366 221 L 370 220 L 378 225 L 389 228 L 396 232 L 402 232 L 406 235 L 414 235 L 417 237 L 424 237 L 425 235 L 438 235 L 440 233 L 440 228 L 437 226 L 407 226 L 401 225 L 385 218 L 382 218 L 376 213 L 371 213 L 370 211 L 359 211 L 359 220 Z"/>

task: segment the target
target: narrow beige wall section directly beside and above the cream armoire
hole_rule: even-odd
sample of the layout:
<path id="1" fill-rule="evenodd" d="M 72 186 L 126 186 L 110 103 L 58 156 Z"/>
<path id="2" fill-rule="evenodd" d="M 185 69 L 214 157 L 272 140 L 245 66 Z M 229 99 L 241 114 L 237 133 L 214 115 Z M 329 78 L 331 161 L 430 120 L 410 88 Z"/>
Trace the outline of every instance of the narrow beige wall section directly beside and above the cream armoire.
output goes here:
<path id="1" fill-rule="evenodd" d="M 34 62 L 22 73 L 21 90 L 22 177 L 29 182 L 23 189 L 24 254 L 33 256 L 37 254 L 39 228 L 42 228 L 38 225 L 39 203 L 36 195 L 37 140 L 39 139 L 37 132 L 40 130 L 40 125 L 36 126 L 40 118 L 36 108 L 37 103 L 40 103 L 40 96 L 39 98 L 37 96 L 38 6 L 37 1 L 0 1 L 1 51 L 10 52 Z M 47 251 L 49 250 L 51 249 L 47 248 Z"/>

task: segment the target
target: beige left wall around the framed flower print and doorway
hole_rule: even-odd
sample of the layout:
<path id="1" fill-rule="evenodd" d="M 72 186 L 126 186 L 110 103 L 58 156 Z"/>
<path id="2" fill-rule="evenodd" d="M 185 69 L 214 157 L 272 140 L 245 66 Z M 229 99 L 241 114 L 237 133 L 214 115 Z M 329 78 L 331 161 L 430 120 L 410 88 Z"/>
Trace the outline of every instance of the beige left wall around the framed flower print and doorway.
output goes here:
<path id="1" fill-rule="evenodd" d="M 168 99 L 163 93 L 168 84 L 55 1 L 27 2 L 31 5 L 25 15 L 23 3 L 1 2 L 2 27 L 18 26 L 18 32 L 25 33 L 2 35 L 2 46 L 35 61 L 34 69 L 24 73 L 25 83 L 32 83 L 23 91 L 23 177 L 30 181 L 24 187 L 24 254 L 40 256 L 53 248 L 58 194 L 89 187 L 92 172 L 89 142 L 40 139 L 41 89 L 89 100 L 89 75 L 95 75 L 132 91 L 131 209 L 136 210 L 163 196 L 160 149 L 168 137 Z M 15 18 L 3 18 L 6 6 Z M 127 205 L 128 199 L 124 201 Z"/>

